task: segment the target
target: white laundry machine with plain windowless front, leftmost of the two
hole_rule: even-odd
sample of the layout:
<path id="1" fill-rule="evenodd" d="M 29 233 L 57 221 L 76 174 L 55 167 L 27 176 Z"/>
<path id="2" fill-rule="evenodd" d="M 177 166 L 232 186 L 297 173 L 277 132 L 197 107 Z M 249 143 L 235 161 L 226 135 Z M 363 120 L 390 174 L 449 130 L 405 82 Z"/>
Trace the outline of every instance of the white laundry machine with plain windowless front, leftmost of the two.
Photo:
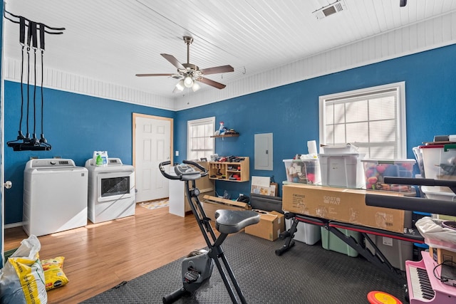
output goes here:
<path id="1" fill-rule="evenodd" d="M 88 170 L 73 159 L 31 159 L 24 169 L 23 228 L 43 236 L 87 225 Z"/>

